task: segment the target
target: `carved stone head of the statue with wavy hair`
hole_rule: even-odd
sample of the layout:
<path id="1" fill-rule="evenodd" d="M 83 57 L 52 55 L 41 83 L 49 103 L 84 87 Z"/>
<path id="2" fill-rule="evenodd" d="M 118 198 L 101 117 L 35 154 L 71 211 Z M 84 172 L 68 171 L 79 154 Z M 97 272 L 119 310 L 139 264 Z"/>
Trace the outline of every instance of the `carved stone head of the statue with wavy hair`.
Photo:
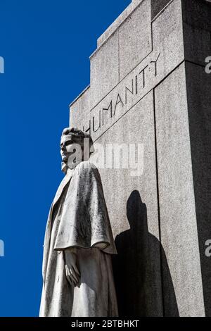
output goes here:
<path id="1" fill-rule="evenodd" d="M 60 139 L 60 154 L 62 157 L 62 170 L 75 168 L 81 161 L 89 160 L 94 153 L 91 136 L 77 127 L 68 127 L 63 130 Z"/>

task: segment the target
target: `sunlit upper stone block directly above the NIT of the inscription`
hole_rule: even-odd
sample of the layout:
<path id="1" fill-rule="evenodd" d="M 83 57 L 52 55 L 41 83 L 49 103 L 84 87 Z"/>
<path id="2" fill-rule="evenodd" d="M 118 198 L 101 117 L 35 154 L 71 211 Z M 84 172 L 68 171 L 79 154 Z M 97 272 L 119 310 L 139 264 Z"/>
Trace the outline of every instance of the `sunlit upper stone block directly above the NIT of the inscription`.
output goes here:
<path id="1" fill-rule="evenodd" d="M 150 1 L 142 1 L 119 29 L 120 80 L 152 51 Z"/>

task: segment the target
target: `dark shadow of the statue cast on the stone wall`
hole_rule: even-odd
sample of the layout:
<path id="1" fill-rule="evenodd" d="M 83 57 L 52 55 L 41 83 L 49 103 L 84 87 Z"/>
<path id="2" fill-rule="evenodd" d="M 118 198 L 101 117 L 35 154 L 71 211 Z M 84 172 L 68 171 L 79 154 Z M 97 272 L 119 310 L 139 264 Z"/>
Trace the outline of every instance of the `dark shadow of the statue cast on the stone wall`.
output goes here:
<path id="1" fill-rule="evenodd" d="M 138 191 L 129 196 L 127 218 L 130 229 L 117 235 L 118 255 L 113 256 L 120 316 L 179 316 L 165 251 L 148 232 L 147 208 Z"/>

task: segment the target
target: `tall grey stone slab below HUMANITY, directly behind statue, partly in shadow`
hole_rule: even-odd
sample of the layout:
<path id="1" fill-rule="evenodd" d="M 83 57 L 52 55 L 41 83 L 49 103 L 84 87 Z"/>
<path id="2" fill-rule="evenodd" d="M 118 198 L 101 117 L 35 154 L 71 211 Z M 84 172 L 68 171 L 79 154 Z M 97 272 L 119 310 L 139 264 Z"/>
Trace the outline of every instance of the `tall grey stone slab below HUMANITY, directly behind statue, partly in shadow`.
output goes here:
<path id="1" fill-rule="evenodd" d="M 122 168 L 100 173 L 119 254 L 114 271 L 120 316 L 162 316 L 153 93 L 96 143 L 143 144 L 143 175 L 132 177 L 131 169 Z"/>

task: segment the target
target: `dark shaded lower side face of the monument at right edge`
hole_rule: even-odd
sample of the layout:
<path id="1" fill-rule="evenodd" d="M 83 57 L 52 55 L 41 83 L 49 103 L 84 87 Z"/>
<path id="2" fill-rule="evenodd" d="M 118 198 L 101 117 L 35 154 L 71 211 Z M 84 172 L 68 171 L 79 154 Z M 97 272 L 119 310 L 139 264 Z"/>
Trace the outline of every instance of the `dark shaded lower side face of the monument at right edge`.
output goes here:
<path id="1" fill-rule="evenodd" d="M 205 256 L 205 242 L 211 238 L 211 75 L 200 65 L 186 63 L 186 82 L 205 312 L 211 316 L 211 259 Z"/>

